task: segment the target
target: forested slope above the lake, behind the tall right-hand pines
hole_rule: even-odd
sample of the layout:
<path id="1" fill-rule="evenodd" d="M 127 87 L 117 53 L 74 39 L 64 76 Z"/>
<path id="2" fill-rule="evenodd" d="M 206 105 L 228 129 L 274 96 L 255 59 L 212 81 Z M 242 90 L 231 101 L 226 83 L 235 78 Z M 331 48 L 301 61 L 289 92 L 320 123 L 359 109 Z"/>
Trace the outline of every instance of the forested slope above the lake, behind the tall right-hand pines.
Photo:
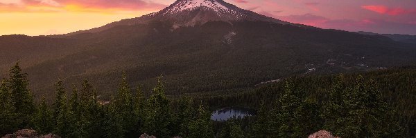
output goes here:
<path id="1" fill-rule="evenodd" d="M 342 77 L 341 77 L 342 76 Z M 406 137 L 415 137 L 416 130 L 416 68 L 415 66 L 394 68 L 388 70 L 375 70 L 362 73 L 346 73 L 343 75 L 309 75 L 304 77 L 291 77 L 295 85 L 304 90 L 304 98 L 311 99 L 315 106 L 323 107 L 328 102 L 333 85 L 342 78 L 346 91 L 354 87 L 357 78 L 376 83 L 367 86 L 378 86 L 382 101 L 388 103 L 397 112 L 395 117 L 399 118 L 401 127 Z M 261 108 L 272 110 L 276 107 L 276 101 L 284 93 L 285 80 L 259 86 L 245 92 L 225 95 L 204 95 L 198 100 L 207 101 L 212 108 L 227 106 L 242 106 L 250 108 Z M 361 79 L 362 80 L 362 79 Z M 348 88 L 349 87 L 349 88 Z M 244 91 L 244 90 L 243 90 Z M 349 97 L 349 96 L 348 96 Z"/>

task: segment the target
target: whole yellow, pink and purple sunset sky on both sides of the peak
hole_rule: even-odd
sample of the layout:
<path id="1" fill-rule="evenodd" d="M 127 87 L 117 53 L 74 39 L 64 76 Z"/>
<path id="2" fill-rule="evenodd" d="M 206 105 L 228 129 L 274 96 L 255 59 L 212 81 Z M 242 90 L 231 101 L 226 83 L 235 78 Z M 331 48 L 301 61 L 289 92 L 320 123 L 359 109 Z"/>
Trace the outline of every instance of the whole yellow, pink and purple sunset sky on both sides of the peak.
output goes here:
<path id="1" fill-rule="evenodd" d="M 175 0 L 0 0 L 0 35 L 63 34 L 157 12 Z M 320 28 L 416 34 L 416 0 L 225 0 Z"/>

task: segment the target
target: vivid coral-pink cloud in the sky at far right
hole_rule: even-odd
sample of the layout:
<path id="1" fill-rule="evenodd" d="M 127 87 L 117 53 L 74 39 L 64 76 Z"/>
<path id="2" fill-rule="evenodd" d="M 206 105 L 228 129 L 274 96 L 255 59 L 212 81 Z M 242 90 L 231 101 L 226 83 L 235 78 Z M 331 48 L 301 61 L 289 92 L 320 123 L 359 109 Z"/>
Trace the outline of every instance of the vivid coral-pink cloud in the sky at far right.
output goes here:
<path id="1" fill-rule="evenodd" d="M 404 8 L 388 8 L 387 6 L 361 6 L 365 10 L 377 12 L 379 14 L 399 15 L 410 14 L 416 12 L 416 8 L 404 9 Z"/>

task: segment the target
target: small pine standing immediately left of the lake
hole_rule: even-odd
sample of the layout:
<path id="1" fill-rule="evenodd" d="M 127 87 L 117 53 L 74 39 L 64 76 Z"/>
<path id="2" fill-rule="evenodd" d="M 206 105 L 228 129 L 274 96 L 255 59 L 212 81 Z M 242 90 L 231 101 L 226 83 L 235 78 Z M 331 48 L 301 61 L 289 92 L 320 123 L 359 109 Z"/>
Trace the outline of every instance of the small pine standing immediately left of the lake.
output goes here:
<path id="1" fill-rule="evenodd" d="M 199 108 L 198 118 L 189 123 L 187 136 L 189 138 L 212 138 L 214 136 L 211 123 L 211 112 L 207 111 L 202 105 Z"/>

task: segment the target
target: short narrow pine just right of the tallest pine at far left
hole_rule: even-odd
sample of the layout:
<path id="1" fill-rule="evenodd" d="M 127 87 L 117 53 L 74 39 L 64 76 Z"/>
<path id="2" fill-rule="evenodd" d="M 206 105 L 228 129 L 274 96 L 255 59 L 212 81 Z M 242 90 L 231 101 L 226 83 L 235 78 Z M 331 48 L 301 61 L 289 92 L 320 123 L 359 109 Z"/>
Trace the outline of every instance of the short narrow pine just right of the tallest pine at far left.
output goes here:
<path id="1" fill-rule="evenodd" d="M 52 132 L 55 122 L 53 122 L 53 116 L 51 110 L 46 106 L 45 97 L 42 97 L 39 107 L 37 108 L 36 115 L 33 118 L 33 126 L 36 132 L 40 134 L 47 134 Z"/>

